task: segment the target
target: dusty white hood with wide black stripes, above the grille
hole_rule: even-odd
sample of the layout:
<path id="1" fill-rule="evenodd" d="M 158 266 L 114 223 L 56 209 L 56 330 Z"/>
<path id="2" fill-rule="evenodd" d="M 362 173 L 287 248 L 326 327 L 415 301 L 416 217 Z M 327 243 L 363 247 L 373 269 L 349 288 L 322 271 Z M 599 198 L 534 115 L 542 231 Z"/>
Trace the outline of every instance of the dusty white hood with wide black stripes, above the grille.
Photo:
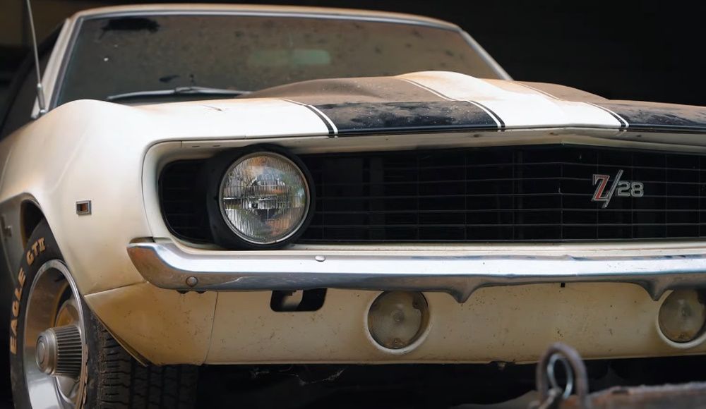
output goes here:
<path id="1" fill-rule="evenodd" d="M 698 106 L 611 101 L 561 85 L 448 72 L 313 80 L 247 98 L 306 106 L 338 136 L 554 127 L 706 130 L 706 109 Z"/>

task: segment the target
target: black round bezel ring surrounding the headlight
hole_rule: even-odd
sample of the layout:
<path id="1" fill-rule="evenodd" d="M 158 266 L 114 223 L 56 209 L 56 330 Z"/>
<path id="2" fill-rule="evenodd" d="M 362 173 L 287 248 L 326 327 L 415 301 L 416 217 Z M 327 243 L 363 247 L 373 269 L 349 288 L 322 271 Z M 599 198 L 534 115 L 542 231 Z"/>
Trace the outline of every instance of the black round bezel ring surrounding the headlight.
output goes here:
<path id="1" fill-rule="evenodd" d="M 304 209 L 304 214 L 301 216 L 301 220 L 297 223 L 297 226 L 292 228 L 286 236 L 266 242 L 252 240 L 241 231 L 238 231 L 232 222 L 229 221 L 223 206 L 223 188 L 227 182 L 226 178 L 228 174 L 232 171 L 232 169 L 246 159 L 260 155 L 277 157 L 277 159 L 288 161 L 289 164 L 297 170 L 298 176 L 302 179 L 302 181 L 304 181 L 304 188 L 307 195 L 306 209 Z M 282 248 L 285 245 L 292 243 L 294 240 L 297 240 L 297 238 L 301 236 L 301 233 L 304 233 L 306 227 L 309 225 L 309 221 L 311 221 L 311 217 L 313 216 L 313 205 L 315 200 L 311 174 L 309 173 L 309 170 L 306 169 L 306 166 L 301 159 L 289 152 L 287 149 L 273 145 L 254 145 L 251 147 L 236 149 L 234 151 L 224 152 L 217 155 L 213 159 L 210 159 L 207 168 L 208 178 L 210 179 L 207 204 L 208 216 L 211 232 L 213 233 L 213 238 L 217 245 L 232 250 L 265 250 Z"/>

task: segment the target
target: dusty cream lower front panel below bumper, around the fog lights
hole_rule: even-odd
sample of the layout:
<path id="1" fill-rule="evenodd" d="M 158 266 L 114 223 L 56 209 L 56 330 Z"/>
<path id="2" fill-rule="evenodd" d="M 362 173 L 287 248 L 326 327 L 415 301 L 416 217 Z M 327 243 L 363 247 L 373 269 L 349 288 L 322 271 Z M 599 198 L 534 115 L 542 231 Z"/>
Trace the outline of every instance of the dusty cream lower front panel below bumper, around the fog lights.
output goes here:
<path id="1" fill-rule="evenodd" d="M 268 292 L 220 293 L 206 362 L 534 362 L 555 341 L 586 359 L 685 353 L 659 338 L 660 303 L 628 284 L 481 288 L 464 304 L 425 293 L 429 333 L 404 355 L 366 336 L 366 309 L 377 295 L 330 290 L 316 312 L 273 312 Z"/>

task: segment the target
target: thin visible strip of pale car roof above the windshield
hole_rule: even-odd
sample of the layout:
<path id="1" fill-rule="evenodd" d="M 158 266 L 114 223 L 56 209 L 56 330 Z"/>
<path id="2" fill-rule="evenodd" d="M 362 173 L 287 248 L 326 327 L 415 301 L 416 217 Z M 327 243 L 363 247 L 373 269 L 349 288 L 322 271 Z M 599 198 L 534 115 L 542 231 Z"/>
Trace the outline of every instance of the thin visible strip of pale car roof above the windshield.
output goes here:
<path id="1" fill-rule="evenodd" d="M 458 26 L 447 21 L 413 14 L 388 11 L 357 10 L 351 8 L 305 7 L 305 6 L 265 6 L 256 4 L 133 4 L 89 8 L 74 14 L 71 19 L 98 16 L 130 16 L 142 13 L 235 13 L 244 15 L 302 16 L 315 18 L 344 18 L 352 20 L 381 20 L 395 23 L 431 25 L 448 30 L 459 30 Z"/>

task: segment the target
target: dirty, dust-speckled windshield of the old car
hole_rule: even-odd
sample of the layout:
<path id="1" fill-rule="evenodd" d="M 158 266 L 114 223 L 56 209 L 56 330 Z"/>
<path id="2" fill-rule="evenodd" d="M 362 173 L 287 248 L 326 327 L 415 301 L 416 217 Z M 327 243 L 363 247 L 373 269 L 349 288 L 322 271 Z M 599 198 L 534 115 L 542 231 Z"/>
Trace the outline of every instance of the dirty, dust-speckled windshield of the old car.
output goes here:
<path id="1" fill-rule="evenodd" d="M 80 26 L 57 104 L 428 70 L 498 77 L 460 32 L 425 25 L 227 14 L 90 18 Z"/>

